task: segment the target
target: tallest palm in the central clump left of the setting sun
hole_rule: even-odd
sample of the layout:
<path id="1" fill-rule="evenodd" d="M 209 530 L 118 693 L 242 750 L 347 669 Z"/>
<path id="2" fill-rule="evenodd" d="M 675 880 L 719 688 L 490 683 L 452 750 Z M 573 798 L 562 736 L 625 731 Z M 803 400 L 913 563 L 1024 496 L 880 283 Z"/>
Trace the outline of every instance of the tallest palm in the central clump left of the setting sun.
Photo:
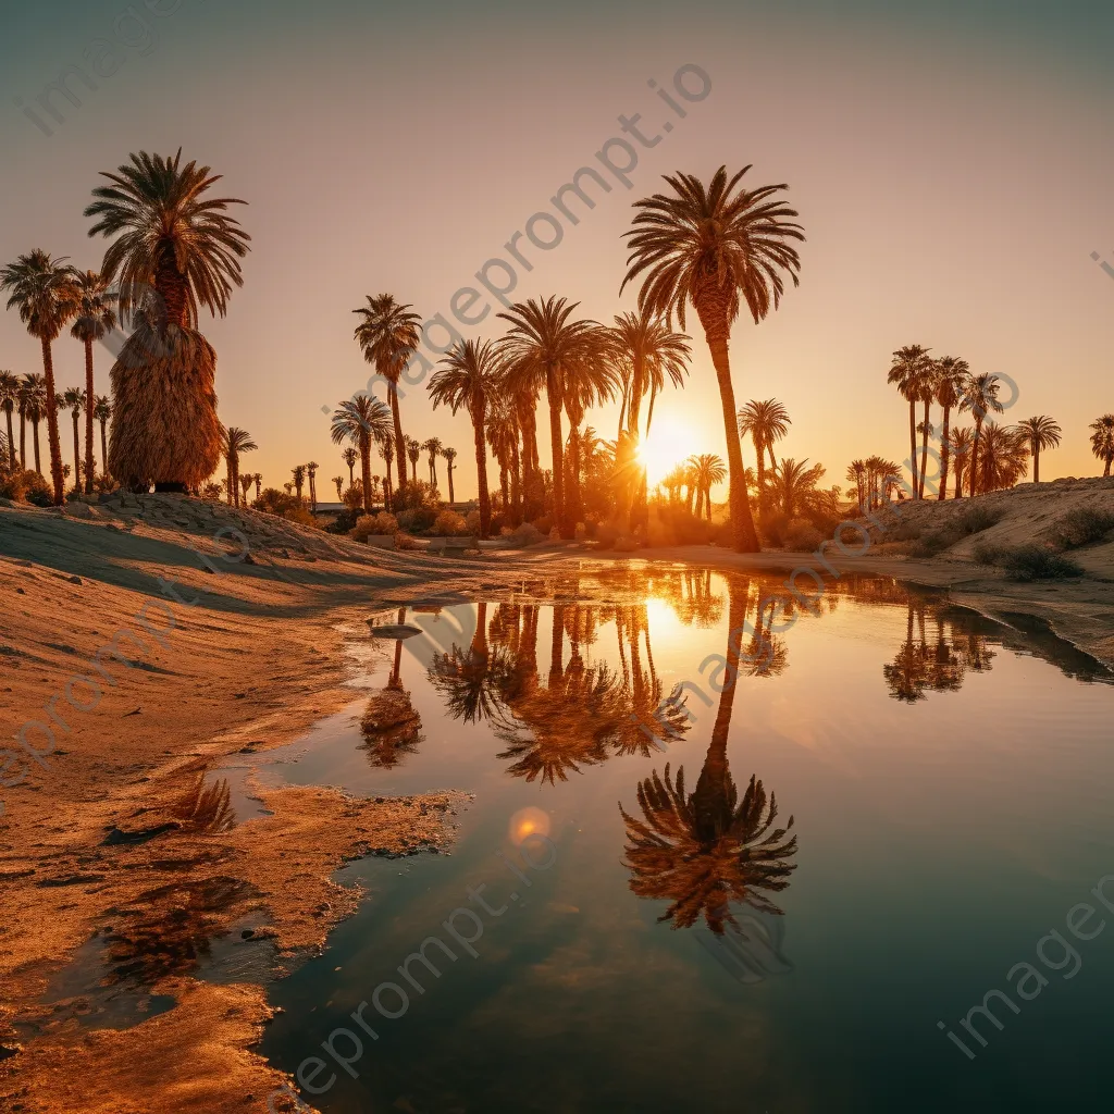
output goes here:
<path id="1" fill-rule="evenodd" d="M 545 388 L 549 403 L 549 448 L 553 455 L 554 521 L 561 537 L 573 537 L 565 507 L 565 462 L 561 451 L 561 409 L 566 387 L 580 391 L 585 384 L 614 381 L 609 364 L 610 338 L 595 321 L 570 320 L 579 302 L 547 297 L 518 302 L 499 316 L 510 322 L 500 343 L 511 391 L 534 397 Z"/>

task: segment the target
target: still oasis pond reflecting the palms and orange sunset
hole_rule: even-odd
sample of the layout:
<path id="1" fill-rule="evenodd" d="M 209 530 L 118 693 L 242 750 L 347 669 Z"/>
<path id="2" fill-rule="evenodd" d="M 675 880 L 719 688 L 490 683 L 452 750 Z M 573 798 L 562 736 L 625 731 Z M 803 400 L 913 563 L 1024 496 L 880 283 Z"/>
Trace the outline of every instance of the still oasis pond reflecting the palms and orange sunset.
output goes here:
<path id="1" fill-rule="evenodd" d="M 369 639 L 403 722 L 361 731 L 362 697 L 256 776 L 473 799 L 451 854 L 338 872 L 369 900 L 274 984 L 263 1054 L 322 1056 L 303 1094 L 344 1114 L 1106 1108 L 1111 675 L 890 580 L 781 595 L 631 568 L 377 615 L 427 632 Z M 1111 922 L 1086 941 L 1079 902 Z M 1040 960 L 1053 929 L 1077 960 Z M 430 936 L 457 958 L 429 946 L 419 991 L 398 968 Z M 384 983 L 405 1012 L 367 1007 L 372 1040 L 350 1015 Z M 1018 1012 L 973 1015 L 984 1046 L 961 1020 L 991 989 Z M 356 1077 L 321 1048 L 340 1027 Z"/>

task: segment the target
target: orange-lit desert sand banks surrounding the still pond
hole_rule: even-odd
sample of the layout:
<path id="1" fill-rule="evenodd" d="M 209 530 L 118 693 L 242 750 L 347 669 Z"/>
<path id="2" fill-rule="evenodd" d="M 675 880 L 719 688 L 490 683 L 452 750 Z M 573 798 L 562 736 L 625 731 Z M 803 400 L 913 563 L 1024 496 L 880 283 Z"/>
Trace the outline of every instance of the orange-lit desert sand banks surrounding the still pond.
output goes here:
<path id="1" fill-rule="evenodd" d="M 1025 485 L 978 501 L 1004 511 L 979 537 L 1039 540 L 1072 506 L 1114 511 L 1114 480 Z M 938 525 L 966 502 L 909 508 L 902 520 Z M 883 534 L 862 557 L 828 548 L 839 573 L 945 587 L 1006 622 L 1037 615 L 1114 663 L 1114 543 L 1075 553 L 1086 578 L 1055 584 L 1009 582 L 975 563 L 971 547 L 916 560 Z M 188 944 L 248 925 L 247 938 L 272 940 L 287 966 L 320 948 L 362 897 L 332 882 L 333 870 L 369 851 L 447 844 L 467 798 L 377 803 L 285 788 L 263 794 L 270 815 L 231 825 L 203 789 L 206 770 L 290 742 L 351 704 L 353 647 L 377 652 L 364 623 L 373 608 L 447 588 L 496 593 L 567 560 L 631 559 L 819 567 L 805 554 L 713 547 L 433 557 L 177 496 L 0 507 L 0 716 L 7 740 L 41 724 L 23 734 L 41 761 L 14 741 L 0 752 L 0 779 L 23 779 L 0 783 L 0 1106 L 264 1110 L 285 1082 L 252 1051 L 271 1016 L 265 978 L 214 986 L 167 969 L 157 990 L 175 1008 L 126 1029 L 82 1026 L 90 1007 L 80 996 L 43 1005 L 51 979 L 95 934 L 135 951 L 145 930 L 178 926 Z M 114 639 L 123 658 L 98 656 Z"/>

